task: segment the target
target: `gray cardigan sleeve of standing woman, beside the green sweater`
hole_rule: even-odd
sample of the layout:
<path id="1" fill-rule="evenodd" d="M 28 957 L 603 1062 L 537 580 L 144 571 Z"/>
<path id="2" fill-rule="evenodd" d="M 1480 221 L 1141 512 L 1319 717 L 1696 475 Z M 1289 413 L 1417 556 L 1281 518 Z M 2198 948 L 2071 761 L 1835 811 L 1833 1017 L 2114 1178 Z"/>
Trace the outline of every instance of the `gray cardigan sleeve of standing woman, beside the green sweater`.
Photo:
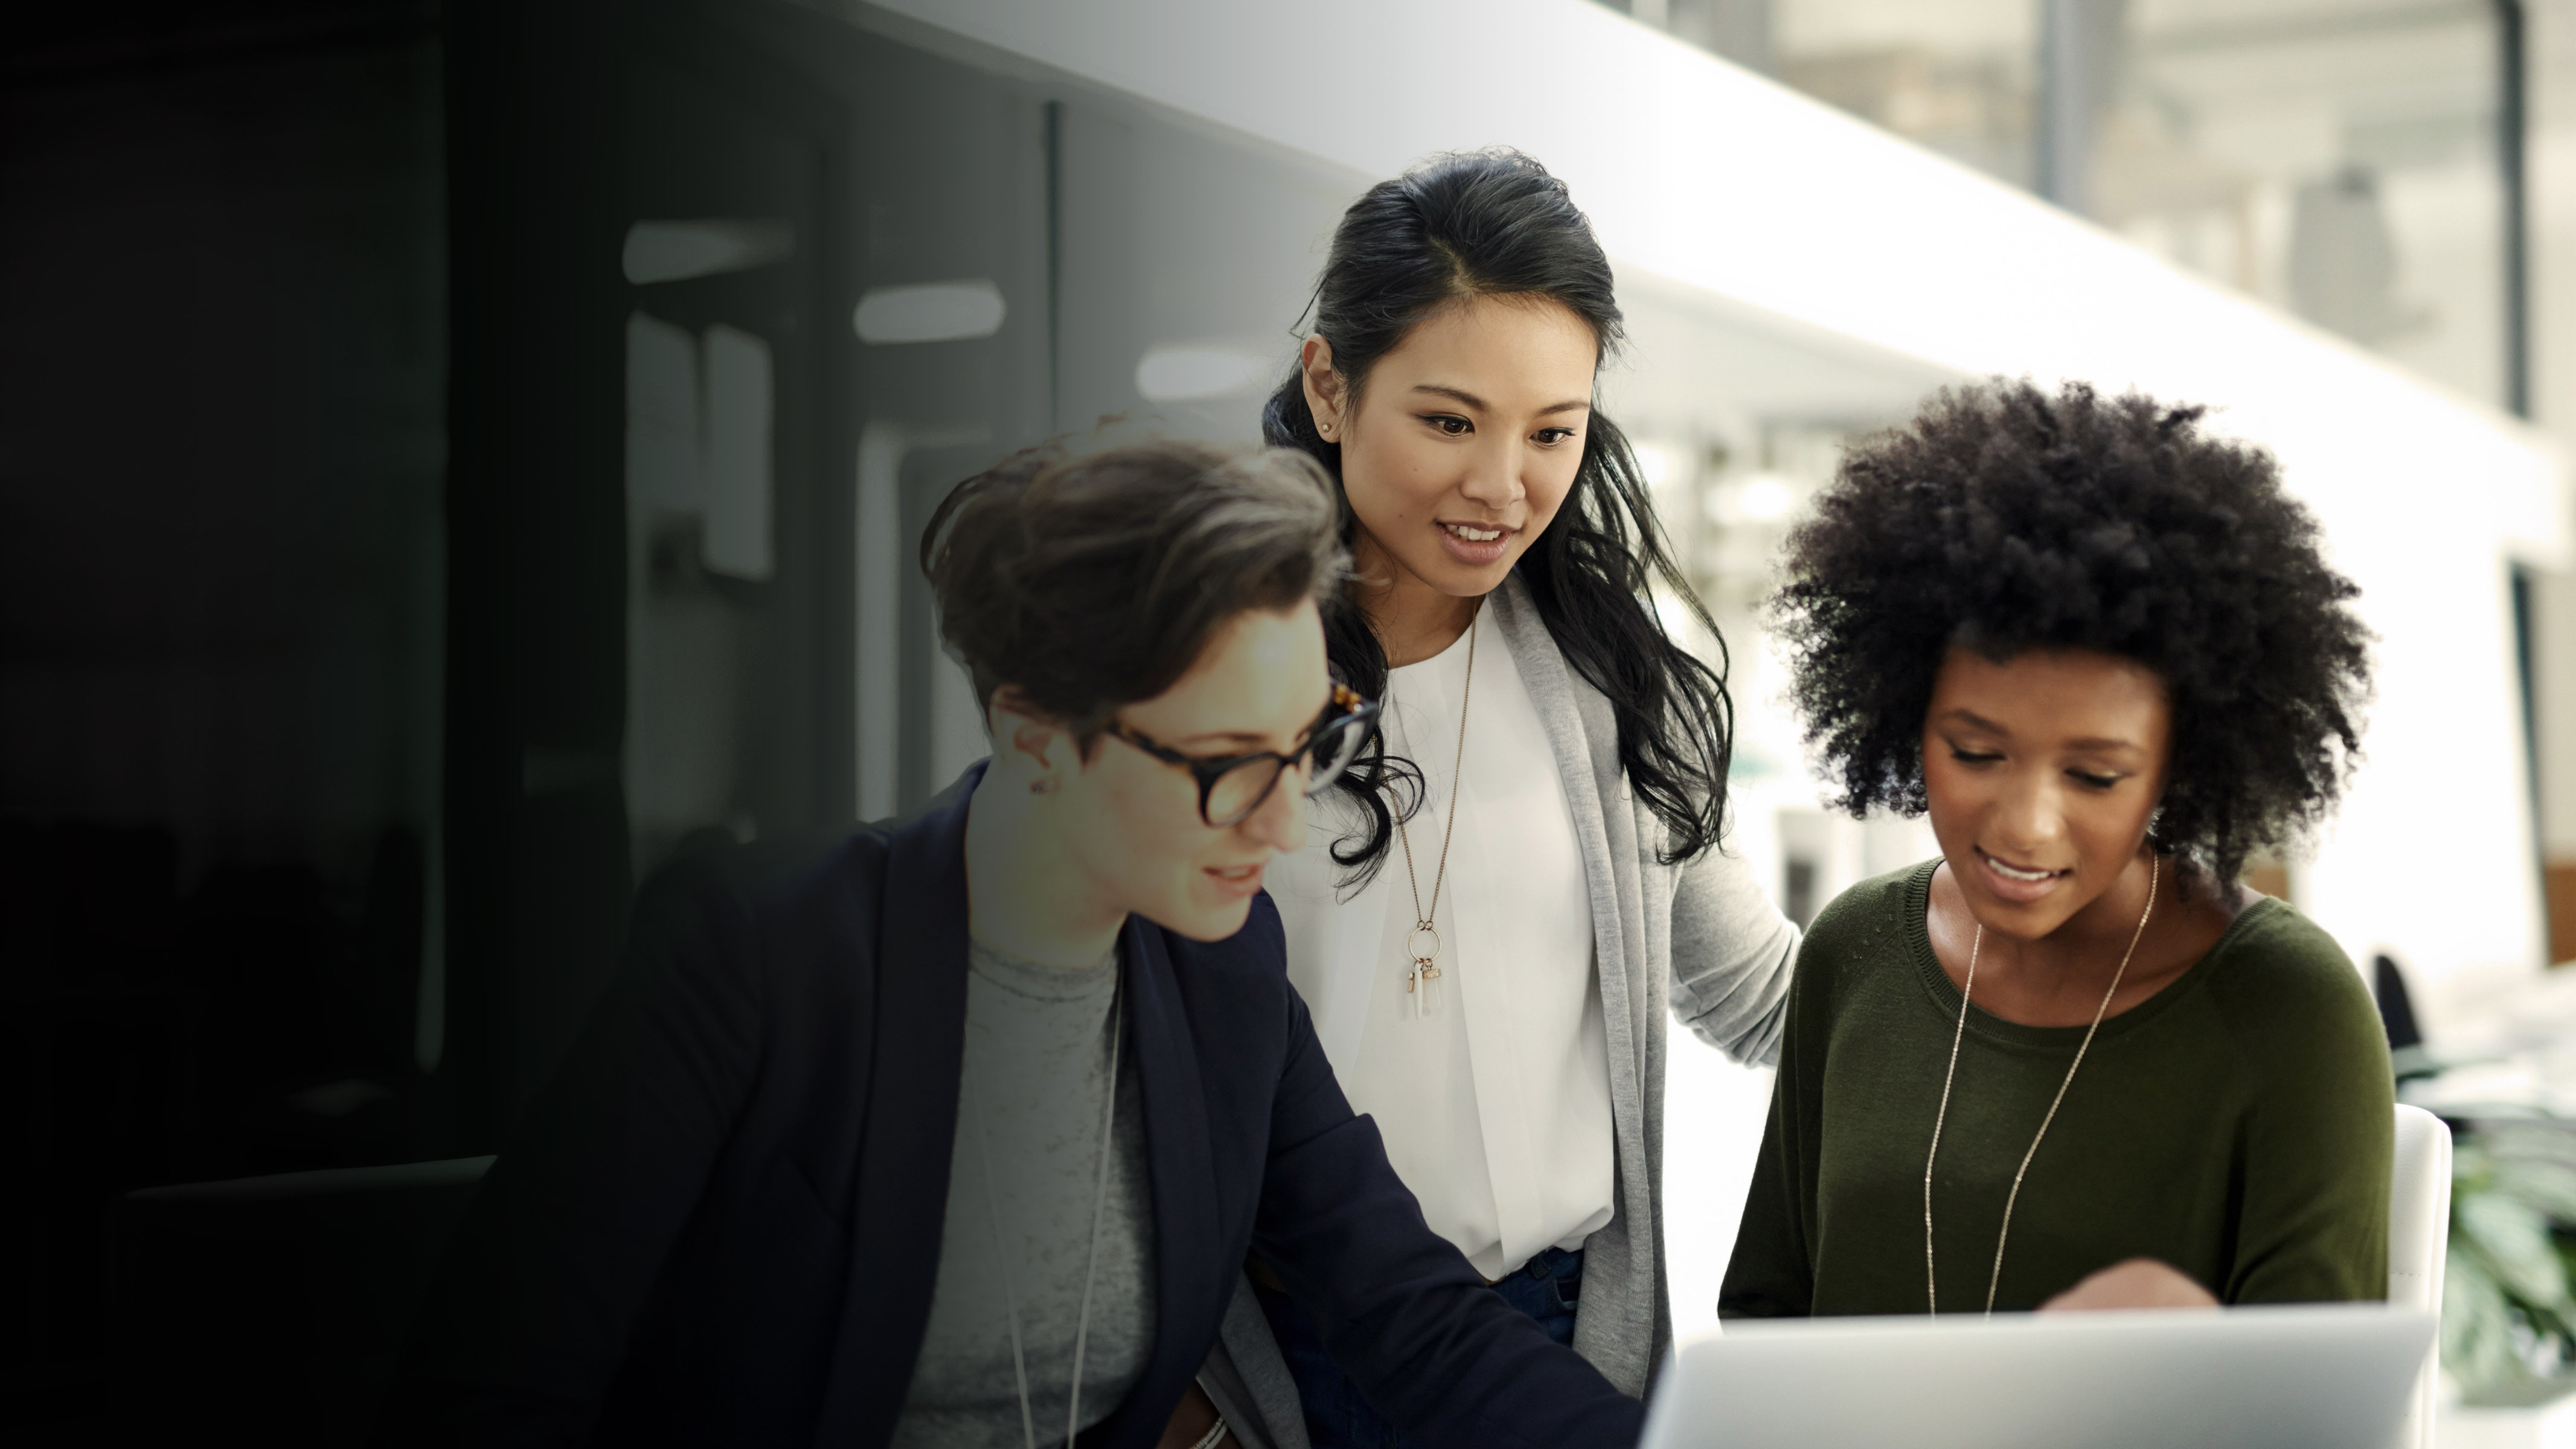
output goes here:
<path id="1" fill-rule="evenodd" d="M 1739 854 L 1708 849 L 1674 875 L 1672 1017 L 1721 1053 L 1770 1066 L 1780 1053 L 1798 927 Z"/>

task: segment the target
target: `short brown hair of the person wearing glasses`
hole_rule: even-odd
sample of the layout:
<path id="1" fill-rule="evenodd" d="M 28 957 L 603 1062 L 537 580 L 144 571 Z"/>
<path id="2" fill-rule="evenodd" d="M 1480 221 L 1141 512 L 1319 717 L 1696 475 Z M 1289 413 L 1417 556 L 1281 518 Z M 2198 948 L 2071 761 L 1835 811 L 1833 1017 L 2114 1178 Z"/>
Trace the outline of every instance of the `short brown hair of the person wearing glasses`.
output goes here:
<path id="1" fill-rule="evenodd" d="M 1285 448 L 1056 440 L 951 489 L 922 530 L 922 574 L 976 703 L 1015 687 L 1087 752 L 1234 615 L 1340 597 L 1332 497 Z"/>

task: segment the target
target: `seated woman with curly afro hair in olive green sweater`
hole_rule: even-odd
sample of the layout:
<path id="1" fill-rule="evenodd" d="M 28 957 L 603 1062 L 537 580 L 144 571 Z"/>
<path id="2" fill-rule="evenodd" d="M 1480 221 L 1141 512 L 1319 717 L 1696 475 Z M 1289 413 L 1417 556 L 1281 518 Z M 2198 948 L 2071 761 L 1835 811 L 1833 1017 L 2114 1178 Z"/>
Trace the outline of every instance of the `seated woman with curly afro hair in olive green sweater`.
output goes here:
<path id="1" fill-rule="evenodd" d="M 1940 860 L 1806 937 L 1721 1315 L 2385 1297 L 2378 1014 L 2236 883 L 2349 772 L 2354 595 L 2200 409 L 1989 383 L 1847 456 L 1772 610 L 1837 803 Z"/>

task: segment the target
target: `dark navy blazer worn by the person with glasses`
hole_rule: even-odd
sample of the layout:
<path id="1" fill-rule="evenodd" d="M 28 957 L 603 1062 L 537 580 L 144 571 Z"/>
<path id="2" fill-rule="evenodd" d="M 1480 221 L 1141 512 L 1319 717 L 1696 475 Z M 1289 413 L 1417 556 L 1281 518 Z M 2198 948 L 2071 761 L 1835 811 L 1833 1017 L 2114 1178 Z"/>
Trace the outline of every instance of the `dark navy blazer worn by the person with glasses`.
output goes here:
<path id="1" fill-rule="evenodd" d="M 492 1166 L 397 1374 L 399 1444 L 878 1446 L 930 1320 L 966 1040 L 966 800 L 662 872 Z M 1427 1446 L 1633 1444 L 1641 1405 L 1435 1235 L 1342 1096 L 1278 909 L 1128 919 L 1154 1349 L 1084 1446 L 1151 1446 L 1260 1248 Z"/>

